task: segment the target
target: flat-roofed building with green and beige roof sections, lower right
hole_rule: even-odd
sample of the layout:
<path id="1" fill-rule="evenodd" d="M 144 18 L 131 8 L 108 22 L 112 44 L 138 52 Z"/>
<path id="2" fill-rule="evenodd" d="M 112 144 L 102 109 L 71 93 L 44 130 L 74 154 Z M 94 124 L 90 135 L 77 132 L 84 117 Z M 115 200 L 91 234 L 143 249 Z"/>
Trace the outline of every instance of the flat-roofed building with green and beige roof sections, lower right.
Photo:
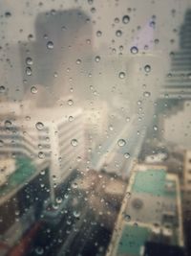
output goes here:
<path id="1" fill-rule="evenodd" d="M 178 176 L 163 166 L 137 165 L 107 255 L 159 255 L 153 246 L 164 255 L 184 255 L 183 243 Z"/>

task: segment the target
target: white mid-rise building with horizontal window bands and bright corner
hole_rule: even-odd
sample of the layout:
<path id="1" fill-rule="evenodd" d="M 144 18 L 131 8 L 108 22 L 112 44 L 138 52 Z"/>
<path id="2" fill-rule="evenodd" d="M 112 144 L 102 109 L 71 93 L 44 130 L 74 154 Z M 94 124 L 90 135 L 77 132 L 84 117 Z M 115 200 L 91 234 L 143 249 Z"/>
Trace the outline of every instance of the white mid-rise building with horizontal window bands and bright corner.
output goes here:
<path id="1" fill-rule="evenodd" d="M 79 167 L 85 153 L 84 122 L 80 108 L 34 108 L 25 116 L 1 124 L 0 154 L 25 155 L 40 164 L 50 162 L 53 183 L 61 183 Z"/>

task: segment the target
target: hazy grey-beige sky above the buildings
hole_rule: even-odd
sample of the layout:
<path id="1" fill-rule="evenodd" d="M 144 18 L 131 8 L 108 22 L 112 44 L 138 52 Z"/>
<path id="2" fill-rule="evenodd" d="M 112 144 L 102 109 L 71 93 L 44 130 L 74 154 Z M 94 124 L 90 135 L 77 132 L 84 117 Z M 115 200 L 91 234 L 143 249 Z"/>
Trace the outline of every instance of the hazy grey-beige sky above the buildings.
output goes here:
<path id="1" fill-rule="evenodd" d="M 145 37 L 141 39 L 144 43 L 153 38 L 159 39 L 157 49 L 168 53 L 177 47 L 178 33 L 173 30 L 179 30 L 188 2 L 189 0 L 19 0 L 15 3 L 15 1 L 2 0 L 0 2 L 0 10 L 3 15 L 1 33 L 5 35 L 6 42 L 27 40 L 29 34 L 34 35 L 33 24 L 38 12 L 66 10 L 75 7 L 91 16 L 96 47 L 102 44 L 107 47 L 123 45 L 124 50 L 128 51 L 139 35 L 141 38 Z M 130 12 L 128 9 L 132 11 Z M 176 11 L 174 15 L 172 10 Z M 11 17 L 6 18 L 5 12 L 11 12 Z M 128 24 L 123 24 L 121 21 L 125 14 L 130 17 Z M 153 15 L 156 16 L 155 28 L 149 25 Z M 118 23 L 115 23 L 116 17 L 119 18 Z M 138 26 L 140 26 L 139 30 Z M 20 30 L 23 32 L 21 33 Z M 96 36 L 97 30 L 102 32 L 100 37 Z M 117 37 L 117 30 L 122 31 L 122 36 Z M 175 39 L 175 43 L 170 43 L 171 39 Z M 112 43 L 112 40 L 115 42 Z"/>

